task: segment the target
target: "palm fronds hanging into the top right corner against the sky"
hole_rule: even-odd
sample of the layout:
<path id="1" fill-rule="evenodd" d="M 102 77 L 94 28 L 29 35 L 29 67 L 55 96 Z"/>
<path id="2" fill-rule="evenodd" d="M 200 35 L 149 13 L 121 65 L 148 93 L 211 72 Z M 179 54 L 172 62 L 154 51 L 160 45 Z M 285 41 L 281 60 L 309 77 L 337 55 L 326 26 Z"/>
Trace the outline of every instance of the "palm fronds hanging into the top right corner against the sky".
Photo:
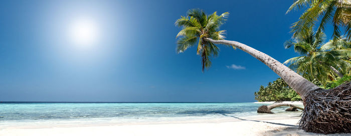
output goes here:
<path id="1" fill-rule="evenodd" d="M 334 39 L 341 37 L 340 28 L 344 28 L 348 39 L 351 38 L 350 0 L 295 0 L 286 13 L 305 6 L 308 8 L 291 26 L 294 37 L 308 36 L 309 30 L 320 19 L 318 33 L 324 31 L 325 25 L 331 21 L 334 27 Z"/>

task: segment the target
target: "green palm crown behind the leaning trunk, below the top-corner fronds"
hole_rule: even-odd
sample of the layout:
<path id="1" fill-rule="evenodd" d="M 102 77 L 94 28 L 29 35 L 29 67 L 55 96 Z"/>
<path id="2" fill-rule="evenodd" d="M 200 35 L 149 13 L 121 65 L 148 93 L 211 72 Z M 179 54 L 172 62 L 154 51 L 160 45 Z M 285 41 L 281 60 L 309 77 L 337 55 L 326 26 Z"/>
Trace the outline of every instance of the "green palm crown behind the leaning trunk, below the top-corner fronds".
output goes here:
<path id="1" fill-rule="evenodd" d="M 325 85 L 326 79 L 332 76 L 331 70 L 335 73 L 338 71 L 334 67 L 340 69 L 345 67 L 344 61 L 341 61 L 340 51 L 322 50 L 325 34 L 323 32 L 309 32 L 307 37 L 294 38 L 284 43 L 285 48 L 294 47 L 295 52 L 302 56 L 288 59 L 284 64 L 290 64 L 289 67 L 295 70 L 309 81 L 317 80 Z M 333 42 L 328 42 L 327 45 Z M 339 75 L 342 77 L 342 75 Z"/>

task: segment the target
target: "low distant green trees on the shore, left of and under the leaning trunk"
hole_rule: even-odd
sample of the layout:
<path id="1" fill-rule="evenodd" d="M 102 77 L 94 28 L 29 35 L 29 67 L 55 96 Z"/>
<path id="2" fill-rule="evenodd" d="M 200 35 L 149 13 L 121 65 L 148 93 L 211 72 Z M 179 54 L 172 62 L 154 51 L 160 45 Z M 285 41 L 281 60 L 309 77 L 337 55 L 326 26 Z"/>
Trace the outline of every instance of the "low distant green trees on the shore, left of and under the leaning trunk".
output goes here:
<path id="1" fill-rule="evenodd" d="M 300 96 L 290 88 L 284 80 L 278 78 L 269 82 L 267 87 L 261 85 L 258 92 L 254 93 L 255 100 L 259 102 L 265 101 L 300 101 Z"/>

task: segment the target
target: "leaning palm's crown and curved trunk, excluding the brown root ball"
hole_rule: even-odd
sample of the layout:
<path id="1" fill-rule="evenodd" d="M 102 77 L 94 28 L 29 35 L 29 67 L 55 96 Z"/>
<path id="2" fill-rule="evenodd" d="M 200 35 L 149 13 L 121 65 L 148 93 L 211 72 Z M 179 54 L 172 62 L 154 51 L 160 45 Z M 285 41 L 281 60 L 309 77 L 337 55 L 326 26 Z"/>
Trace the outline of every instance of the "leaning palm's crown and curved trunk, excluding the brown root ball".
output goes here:
<path id="1" fill-rule="evenodd" d="M 177 35 L 177 37 L 182 36 L 177 42 L 177 51 L 184 52 L 189 47 L 194 46 L 198 41 L 197 54 L 202 57 L 204 69 L 204 67 L 211 66 L 210 55 L 218 55 L 219 48 L 215 44 L 233 46 L 234 48 L 239 48 L 249 53 L 265 63 L 275 73 L 282 77 L 290 87 L 300 94 L 302 99 L 304 99 L 305 95 L 310 90 L 320 89 L 318 86 L 312 84 L 267 54 L 237 41 L 224 40 L 223 34 L 225 30 L 220 30 L 219 28 L 226 20 L 228 14 L 228 12 L 225 12 L 221 15 L 217 15 L 217 12 L 214 12 L 211 15 L 206 15 L 206 13 L 200 9 L 190 9 L 187 16 L 182 16 L 175 21 L 177 26 L 182 27 L 182 30 Z"/>

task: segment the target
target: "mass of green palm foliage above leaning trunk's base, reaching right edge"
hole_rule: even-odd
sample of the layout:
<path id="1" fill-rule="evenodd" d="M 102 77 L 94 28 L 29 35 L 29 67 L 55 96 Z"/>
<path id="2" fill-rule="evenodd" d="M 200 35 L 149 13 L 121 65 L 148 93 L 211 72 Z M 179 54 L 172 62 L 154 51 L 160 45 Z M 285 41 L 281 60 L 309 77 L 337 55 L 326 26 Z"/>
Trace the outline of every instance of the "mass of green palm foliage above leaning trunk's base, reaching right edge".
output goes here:
<path id="1" fill-rule="evenodd" d="M 307 37 L 286 41 L 285 48 L 294 47 L 301 56 L 288 59 L 284 64 L 289 64 L 289 68 L 307 80 L 317 80 L 323 85 L 336 79 L 330 66 L 345 74 L 351 66 L 350 41 L 340 38 L 323 44 L 324 37 L 322 32 L 310 31 Z"/>

